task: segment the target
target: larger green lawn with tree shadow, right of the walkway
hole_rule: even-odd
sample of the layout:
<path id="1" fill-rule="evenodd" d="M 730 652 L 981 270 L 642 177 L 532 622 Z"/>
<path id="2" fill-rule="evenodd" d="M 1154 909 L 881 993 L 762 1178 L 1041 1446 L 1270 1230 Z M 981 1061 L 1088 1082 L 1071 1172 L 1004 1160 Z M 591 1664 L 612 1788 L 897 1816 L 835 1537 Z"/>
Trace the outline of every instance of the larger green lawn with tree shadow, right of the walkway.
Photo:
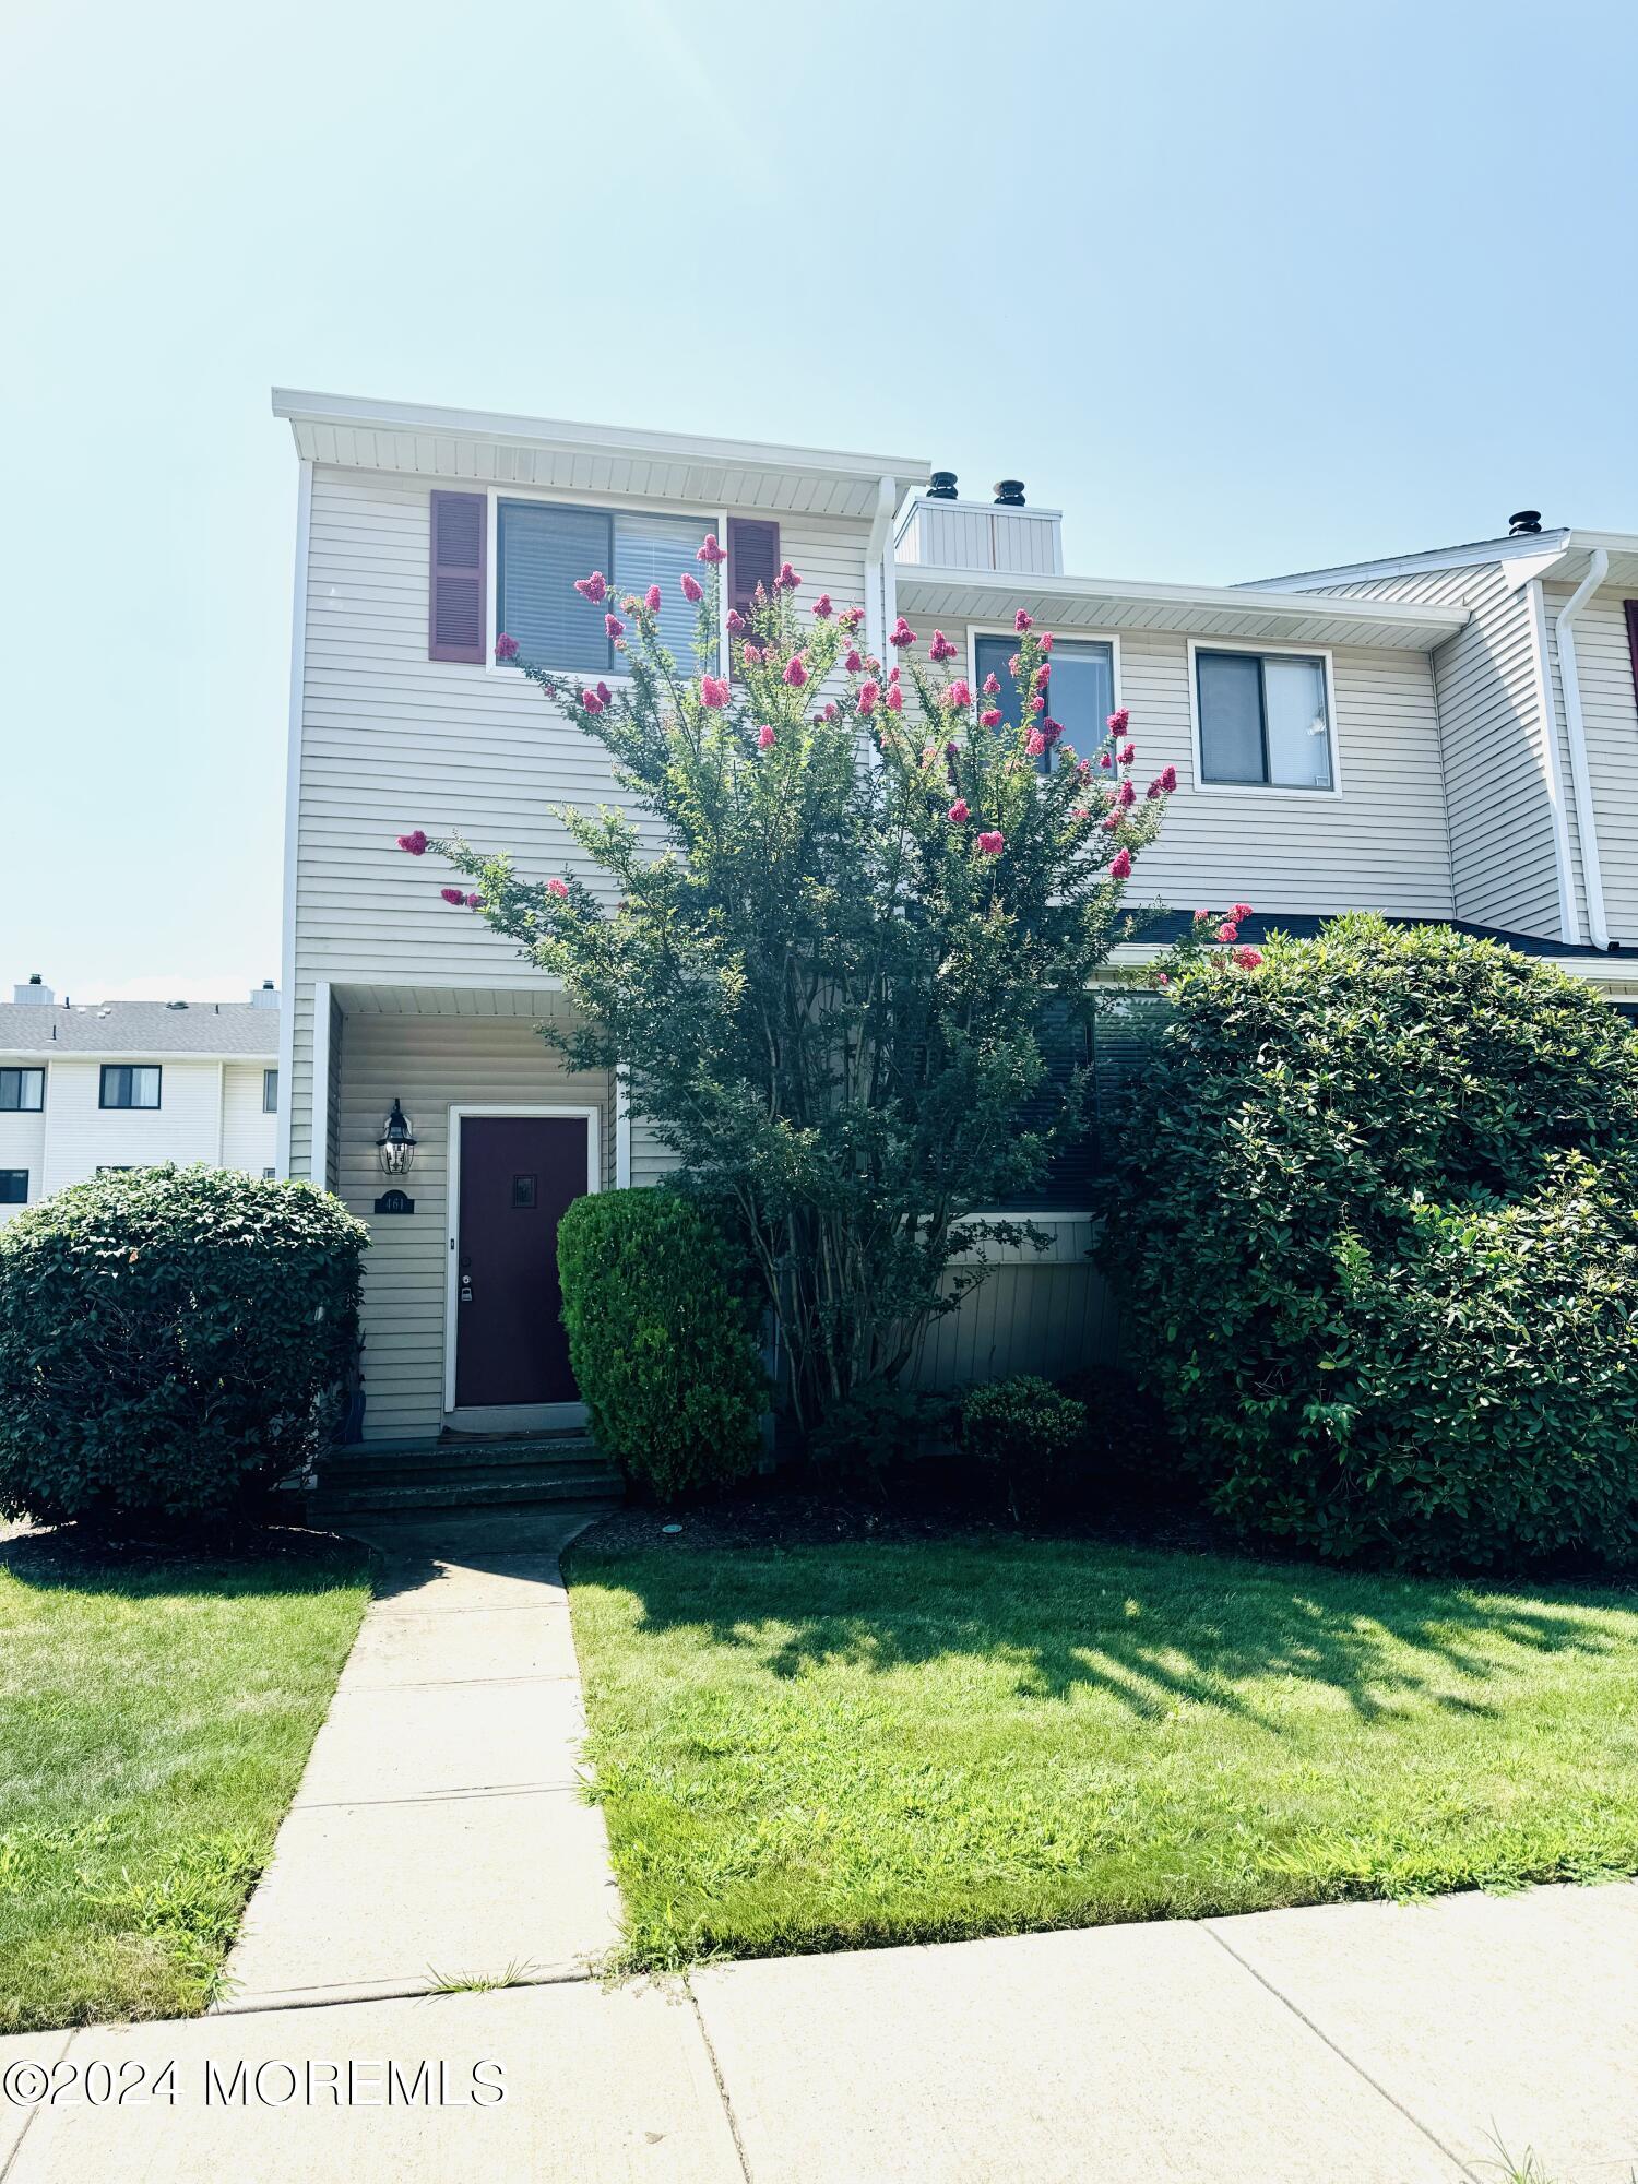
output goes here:
<path id="1" fill-rule="evenodd" d="M 1638 1592 L 1088 1542 L 572 1557 L 638 1963 L 1638 1872 Z"/>

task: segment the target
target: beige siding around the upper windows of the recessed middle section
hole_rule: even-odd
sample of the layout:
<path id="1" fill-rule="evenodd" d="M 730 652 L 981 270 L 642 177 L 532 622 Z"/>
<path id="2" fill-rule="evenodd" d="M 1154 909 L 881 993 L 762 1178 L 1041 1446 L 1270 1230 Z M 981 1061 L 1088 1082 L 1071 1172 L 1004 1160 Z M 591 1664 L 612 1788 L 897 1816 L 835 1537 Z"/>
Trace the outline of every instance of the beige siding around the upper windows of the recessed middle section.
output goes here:
<path id="1" fill-rule="evenodd" d="M 943 631 L 965 655 L 968 625 L 946 620 Z M 919 636 L 930 640 L 930 620 Z M 1081 636 L 1096 631 L 1064 631 L 1064 642 Z M 1160 841 L 1138 860 L 1133 900 L 1452 915 L 1439 723 L 1424 653 L 1332 651 L 1339 795 L 1199 786 L 1188 673 L 1184 636 L 1120 631 L 1116 703 L 1131 710 L 1138 782 L 1177 767 L 1177 793 Z"/>

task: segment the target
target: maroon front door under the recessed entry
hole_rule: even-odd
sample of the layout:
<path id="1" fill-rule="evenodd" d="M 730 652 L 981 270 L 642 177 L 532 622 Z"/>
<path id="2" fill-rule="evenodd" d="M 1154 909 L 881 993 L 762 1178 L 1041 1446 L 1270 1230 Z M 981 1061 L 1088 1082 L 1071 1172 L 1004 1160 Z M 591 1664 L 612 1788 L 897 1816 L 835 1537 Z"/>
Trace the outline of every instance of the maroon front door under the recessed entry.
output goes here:
<path id="1" fill-rule="evenodd" d="M 577 1402 L 568 1369 L 557 1223 L 585 1190 L 590 1123 L 461 1116 L 454 1400 Z"/>

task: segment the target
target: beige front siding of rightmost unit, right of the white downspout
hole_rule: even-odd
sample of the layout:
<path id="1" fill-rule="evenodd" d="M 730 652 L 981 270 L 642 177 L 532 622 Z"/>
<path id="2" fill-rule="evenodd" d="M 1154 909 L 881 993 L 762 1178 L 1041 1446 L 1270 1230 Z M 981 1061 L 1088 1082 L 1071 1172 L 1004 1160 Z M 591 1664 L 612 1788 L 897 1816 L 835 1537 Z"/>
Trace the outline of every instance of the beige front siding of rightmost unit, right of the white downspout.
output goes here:
<path id="1" fill-rule="evenodd" d="M 1542 590 L 1546 598 L 1546 657 L 1553 677 L 1559 738 L 1564 743 L 1564 782 L 1568 793 L 1570 756 L 1564 727 L 1564 670 L 1559 664 L 1557 616 L 1575 587 L 1544 585 Z M 1603 915 L 1610 926 L 1610 939 L 1631 948 L 1638 946 L 1638 699 L 1634 697 L 1631 651 L 1627 649 L 1627 618 L 1621 592 L 1594 592 L 1581 607 L 1575 618 L 1575 660 L 1588 747 L 1588 780 L 1592 782 L 1592 810 L 1599 830 Z M 1586 902 L 1579 856 L 1577 893 Z"/>

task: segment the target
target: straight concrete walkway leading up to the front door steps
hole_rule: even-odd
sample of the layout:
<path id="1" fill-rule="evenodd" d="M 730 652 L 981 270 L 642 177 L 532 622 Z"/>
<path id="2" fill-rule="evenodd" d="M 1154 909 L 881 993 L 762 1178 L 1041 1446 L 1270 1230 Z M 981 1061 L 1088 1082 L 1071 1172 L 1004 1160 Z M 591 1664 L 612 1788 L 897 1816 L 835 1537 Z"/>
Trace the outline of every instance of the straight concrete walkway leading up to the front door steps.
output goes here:
<path id="1" fill-rule="evenodd" d="M 618 1939 L 559 1551 L 596 1511 L 380 1518 L 382 1553 L 218 2011 L 570 1979 Z"/>

